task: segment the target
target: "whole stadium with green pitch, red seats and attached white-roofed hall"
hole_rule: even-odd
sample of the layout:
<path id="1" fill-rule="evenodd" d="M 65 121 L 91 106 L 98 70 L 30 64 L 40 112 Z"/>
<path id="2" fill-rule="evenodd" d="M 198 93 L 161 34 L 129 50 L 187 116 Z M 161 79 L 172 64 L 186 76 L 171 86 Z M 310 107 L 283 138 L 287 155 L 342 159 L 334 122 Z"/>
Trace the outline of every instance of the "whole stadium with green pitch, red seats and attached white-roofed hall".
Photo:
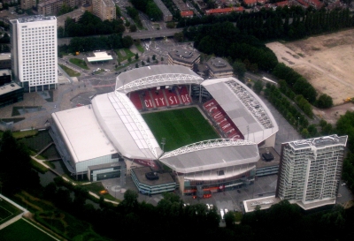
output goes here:
<path id="1" fill-rule="evenodd" d="M 258 148 L 274 147 L 269 109 L 235 78 L 157 65 L 119 74 L 115 91 L 52 114 L 66 168 L 90 181 L 131 176 L 139 192 L 209 197 L 254 180 Z M 125 177 L 126 175 L 121 175 Z"/>

